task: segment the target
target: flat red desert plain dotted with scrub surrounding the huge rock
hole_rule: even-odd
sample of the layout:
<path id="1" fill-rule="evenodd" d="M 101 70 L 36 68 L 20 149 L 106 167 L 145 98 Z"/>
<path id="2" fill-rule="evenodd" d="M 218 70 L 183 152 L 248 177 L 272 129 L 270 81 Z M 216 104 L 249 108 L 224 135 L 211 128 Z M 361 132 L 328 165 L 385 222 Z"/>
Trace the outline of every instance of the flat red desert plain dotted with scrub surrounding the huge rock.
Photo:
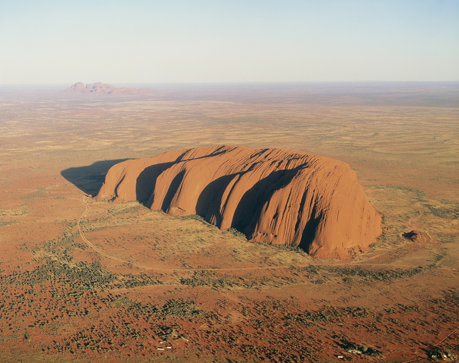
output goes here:
<path id="1" fill-rule="evenodd" d="M 0 89 L 1 362 L 459 357 L 459 84 L 65 87 Z M 88 196 L 118 162 L 212 145 L 348 163 L 384 234 L 319 259 Z"/>

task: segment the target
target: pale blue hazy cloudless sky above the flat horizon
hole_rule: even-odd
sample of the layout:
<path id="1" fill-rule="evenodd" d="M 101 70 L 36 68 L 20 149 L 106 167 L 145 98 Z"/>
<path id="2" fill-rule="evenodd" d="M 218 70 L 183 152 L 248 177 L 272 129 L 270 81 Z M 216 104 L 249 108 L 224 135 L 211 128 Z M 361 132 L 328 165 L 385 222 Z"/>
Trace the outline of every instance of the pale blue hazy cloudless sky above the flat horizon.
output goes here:
<path id="1" fill-rule="evenodd" d="M 0 84 L 459 80 L 459 1 L 0 0 Z"/>

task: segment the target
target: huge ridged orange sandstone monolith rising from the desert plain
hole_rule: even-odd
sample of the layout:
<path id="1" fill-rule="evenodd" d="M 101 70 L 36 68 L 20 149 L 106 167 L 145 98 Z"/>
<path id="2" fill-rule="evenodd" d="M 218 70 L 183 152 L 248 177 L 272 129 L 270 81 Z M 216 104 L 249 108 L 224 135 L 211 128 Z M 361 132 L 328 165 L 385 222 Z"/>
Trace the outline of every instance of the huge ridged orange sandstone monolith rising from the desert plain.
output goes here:
<path id="1" fill-rule="evenodd" d="M 210 146 L 127 160 L 96 200 L 148 200 L 174 216 L 200 214 L 249 240 L 346 259 L 381 235 L 381 216 L 345 162 L 286 149 Z"/>

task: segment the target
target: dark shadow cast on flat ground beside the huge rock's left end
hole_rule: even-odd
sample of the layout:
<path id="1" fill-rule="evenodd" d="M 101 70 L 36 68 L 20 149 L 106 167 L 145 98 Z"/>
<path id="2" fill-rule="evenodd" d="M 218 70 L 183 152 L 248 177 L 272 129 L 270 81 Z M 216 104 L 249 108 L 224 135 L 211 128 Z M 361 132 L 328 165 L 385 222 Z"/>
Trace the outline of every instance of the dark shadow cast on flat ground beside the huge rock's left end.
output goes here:
<path id="1" fill-rule="evenodd" d="M 61 175 L 79 190 L 94 196 L 101 190 L 108 169 L 125 160 L 129 159 L 103 160 L 84 167 L 68 168 L 62 170 Z"/>

